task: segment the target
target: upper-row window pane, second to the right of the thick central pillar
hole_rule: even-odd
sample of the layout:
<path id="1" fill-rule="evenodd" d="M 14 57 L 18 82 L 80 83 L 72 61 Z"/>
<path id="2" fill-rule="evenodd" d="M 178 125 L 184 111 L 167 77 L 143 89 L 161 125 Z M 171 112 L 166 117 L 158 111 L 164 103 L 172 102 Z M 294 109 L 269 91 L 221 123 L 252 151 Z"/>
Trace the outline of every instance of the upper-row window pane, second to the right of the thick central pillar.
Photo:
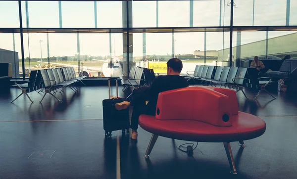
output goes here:
<path id="1" fill-rule="evenodd" d="M 189 27 L 190 1 L 159 1 L 159 27 Z"/>

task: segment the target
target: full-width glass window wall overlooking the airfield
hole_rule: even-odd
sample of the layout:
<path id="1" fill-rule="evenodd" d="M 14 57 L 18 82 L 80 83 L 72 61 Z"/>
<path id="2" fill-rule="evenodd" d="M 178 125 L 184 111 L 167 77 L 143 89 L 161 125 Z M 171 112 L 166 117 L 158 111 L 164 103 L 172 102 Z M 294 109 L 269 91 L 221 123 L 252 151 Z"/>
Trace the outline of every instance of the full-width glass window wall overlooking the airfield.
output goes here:
<path id="1" fill-rule="evenodd" d="M 24 74 L 28 77 L 30 73 L 27 74 L 27 71 L 33 68 L 45 68 L 49 61 L 50 67 L 52 63 L 63 62 L 64 65 L 73 65 L 77 72 L 81 65 L 84 69 L 92 67 L 90 77 L 110 76 L 107 72 L 99 74 L 94 68 L 99 68 L 101 71 L 103 68 L 122 70 L 127 63 L 126 47 L 123 46 L 127 44 L 124 38 L 126 34 L 112 28 L 120 28 L 120 31 L 129 30 L 134 33 L 130 36 L 130 42 L 133 42 L 130 43 L 130 45 L 133 44 L 133 50 L 130 51 L 130 57 L 133 60 L 130 61 L 130 66 L 135 65 L 133 62 L 143 62 L 146 59 L 150 64 L 157 61 L 165 62 L 172 56 L 186 60 L 185 64 L 193 61 L 196 63 L 201 58 L 203 60 L 200 61 L 204 63 L 205 49 L 206 62 L 215 60 L 216 65 L 229 66 L 230 32 L 228 32 L 228 26 L 230 25 L 231 4 L 228 0 L 133 1 L 129 2 L 132 3 L 132 9 L 129 8 L 130 12 L 123 9 L 126 3 L 123 1 L 60 2 L 21 1 L 23 28 L 44 28 L 49 32 L 49 34 L 36 33 L 29 29 L 28 34 L 27 29 L 24 29 L 24 64 L 22 64 L 20 34 L 17 34 L 20 24 L 18 1 L 0 1 L 0 48 L 18 52 L 20 62 L 15 63 L 20 67 L 20 74 L 23 73 L 22 65 L 26 69 Z M 286 27 L 288 29 L 273 27 L 276 31 L 268 33 L 262 31 L 263 29 L 257 31 L 245 27 L 254 25 L 265 28 L 265 26 L 284 26 L 286 23 L 297 25 L 296 0 L 275 0 L 274 3 L 262 0 L 234 0 L 234 2 L 233 25 L 238 28 L 234 28 L 233 32 L 232 66 L 242 66 L 241 60 L 252 58 L 255 55 L 261 59 L 278 59 L 283 58 L 285 54 L 295 55 L 297 53 L 293 42 L 297 38 L 297 33 L 291 31 L 294 30 L 293 27 Z M 287 11 L 289 2 L 290 13 Z M 61 16 L 59 4 L 61 4 Z M 126 27 L 123 13 L 129 13 L 130 17 L 132 15 L 132 27 L 143 29 L 122 29 Z M 195 30 L 189 28 L 192 26 Z M 207 32 L 204 42 L 204 29 L 202 32 L 193 31 L 197 30 L 196 27 L 205 26 L 214 27 L 213 30 L 216 30 L 216 27 L 225 26 L 227 32 L 211 32 L 211 29 L 205 29 Z M 7 27 L 12 29 L 5 29 Z M 48 29 L 60 27 L 59 30 Z M 142 33 L 151 27 L 157 29 L 153 30 L 153 33 Z M 163 29 L 164 27 L 184 29 L 178 29 L 180 32 L 173 34 L 168 32 L 168 29 Z M 110 31 L 94 28 L 108 28 Z M 16 33 L 12 34 L 12 31 Z M 77 31 L 80 31 L 80 34 L 76 34 Z M 163 31 L 166 32 L 161 33 Z M 107 63 L 110 59 L 113 63 Z"/>

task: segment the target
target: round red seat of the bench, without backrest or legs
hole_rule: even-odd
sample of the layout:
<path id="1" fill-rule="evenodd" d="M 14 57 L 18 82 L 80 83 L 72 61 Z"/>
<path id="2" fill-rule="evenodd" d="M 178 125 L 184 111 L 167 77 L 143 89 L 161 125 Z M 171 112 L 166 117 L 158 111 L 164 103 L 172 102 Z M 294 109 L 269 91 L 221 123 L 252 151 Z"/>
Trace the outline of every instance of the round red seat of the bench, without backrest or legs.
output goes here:
<path id="1" fill-rule="evenodd" d="M 199 142 L 232 142 L 248 140 L 264 134 L 265 122 L 251 114 L 239 112 L 231 116 L 230 127 L 217 127 L 193 120 L 157 120 L 155 116 L 141 115 L 139 125 L 146 131 L 179 140 Z"/>

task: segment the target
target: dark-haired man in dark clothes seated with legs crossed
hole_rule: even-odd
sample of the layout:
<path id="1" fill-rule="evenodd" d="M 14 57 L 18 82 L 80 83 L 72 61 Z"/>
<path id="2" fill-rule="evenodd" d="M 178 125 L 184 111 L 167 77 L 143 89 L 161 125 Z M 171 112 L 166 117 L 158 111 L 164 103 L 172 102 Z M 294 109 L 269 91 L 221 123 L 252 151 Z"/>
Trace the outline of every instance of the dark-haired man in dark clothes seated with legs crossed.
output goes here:
<path id="1" fill-rule="evenodd" d="M 167 62 L 167 76 L 158 76 L 150 87 L 135 89 L 132 99 L 115 104 L 117 110 L 133 106 L 131 117 L 131 138 L 137 139 L 138 118 L 141 114 L 155 115 L 159 92 L 171 89 L 188 87 L 189 84 L 184 77 L 180 76 L 183 69 L 183 62 L 178 58 L 172 58 Z M 148 101 L 148 104 L 146 104 Z"/>

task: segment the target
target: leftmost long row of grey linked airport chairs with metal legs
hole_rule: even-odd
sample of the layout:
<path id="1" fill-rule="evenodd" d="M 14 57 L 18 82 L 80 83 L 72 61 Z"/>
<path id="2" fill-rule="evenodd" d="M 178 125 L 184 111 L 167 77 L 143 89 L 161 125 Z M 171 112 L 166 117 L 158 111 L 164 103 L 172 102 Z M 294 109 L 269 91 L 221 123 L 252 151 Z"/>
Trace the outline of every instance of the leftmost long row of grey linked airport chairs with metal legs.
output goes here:
<path id="1" fill-rule="evenodd" d="M 63 67 L 63 68 L 53 68 L 53 69 L 45 69 L 45 70 L 32 70 L 29 81 L 25 84 L 24 81 L 15 81 L 15 87 L 18 87 L 22 90 L 22 93 L 18 95 L 13 101 L 15 101 L 18 97 L 22 94 L 25 94 L 31 103 L 33 101 L 29 97 L 28 93 L 32 91 L 45 91 L 44 96 L 42 97 L 41 101 L 44 99 L 45 95 L 49 93 L 58 101 L 62 102 L 56 96 L 53 95 L 54 92 L 57 92 L 57 89 L 61 88 L 60 92 L 63 92 L 66 87 L 69 87 L 73 91 L 77 91 L 77 89 L 73 86 L 76 82 L 80 81 L 85 78 L 86 76 L 76 77 L 76 73 L 73 67 Z M 53 93 L 52 93 L 53 92 Z M 13 102 L 11 101 L 11 103 Z"/>

